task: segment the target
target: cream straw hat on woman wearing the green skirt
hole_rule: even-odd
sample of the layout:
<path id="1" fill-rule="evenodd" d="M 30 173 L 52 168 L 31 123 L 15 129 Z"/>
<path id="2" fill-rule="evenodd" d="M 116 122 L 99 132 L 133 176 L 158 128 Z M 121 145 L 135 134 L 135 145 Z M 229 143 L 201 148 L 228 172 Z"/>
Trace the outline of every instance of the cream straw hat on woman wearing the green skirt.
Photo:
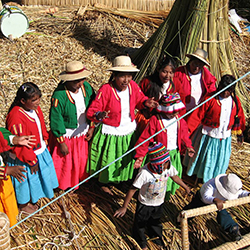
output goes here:
<path id="1" fill-rule="evenodd" d="M 109 71 L 118 71 L 118 72 L 138 72 L 139 69 L 132 64 L 129 56 L 117 56 L 114 59 L 113 66 Z"/>

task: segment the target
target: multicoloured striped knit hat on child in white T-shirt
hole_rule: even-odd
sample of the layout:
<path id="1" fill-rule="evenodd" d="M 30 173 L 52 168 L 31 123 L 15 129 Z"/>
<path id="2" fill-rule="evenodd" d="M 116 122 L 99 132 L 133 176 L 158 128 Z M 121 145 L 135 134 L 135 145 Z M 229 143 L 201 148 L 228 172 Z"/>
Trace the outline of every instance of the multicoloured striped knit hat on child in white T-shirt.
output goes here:
<path id="1" fill-rule="evenodd" d="M 169 151 L 162 143 L 156 142 L 148 148 L 148 155 L 153 170 L 161 174 L 163 171 L 162 164 L 170 161 Z"/>

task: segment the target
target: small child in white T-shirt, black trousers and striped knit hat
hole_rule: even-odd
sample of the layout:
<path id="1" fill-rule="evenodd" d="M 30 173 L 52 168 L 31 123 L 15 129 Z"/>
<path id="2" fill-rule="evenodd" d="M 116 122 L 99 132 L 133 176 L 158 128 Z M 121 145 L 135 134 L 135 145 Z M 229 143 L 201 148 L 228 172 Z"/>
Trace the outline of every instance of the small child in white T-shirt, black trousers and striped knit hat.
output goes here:
<path id="1" fill-rule="evenodd" d="M 150 162 L 140 169 L 133 186 L 126 195 L 123 206 L 114 214 L 115 217 L 124 216 L 130 200 L 139 189 L 133 237 L 142 249 L 147 249 L 144 234 L 146 227 L 148 227 L 149 237 L 158 237 L 155 243 L 164 247 L 160 219 L 163 213 L 168 178 L 170 177 L 188 194 L 190 193 L 190 188 L 177 176 L 178 172 L 171 164 L 169 152 L 162 143 L 149 147 L 148 154 Z"/>

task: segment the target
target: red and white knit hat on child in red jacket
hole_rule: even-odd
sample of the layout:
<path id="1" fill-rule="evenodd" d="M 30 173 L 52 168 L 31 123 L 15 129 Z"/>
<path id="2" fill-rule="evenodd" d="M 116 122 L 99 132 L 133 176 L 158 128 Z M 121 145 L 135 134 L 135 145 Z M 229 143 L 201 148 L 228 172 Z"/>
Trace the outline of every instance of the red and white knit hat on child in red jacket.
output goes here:
<path id="1" fill-rule="evenodd" d="M 163 95 L 159 101 L 159 106 L 156 108 L 158 112 L 172 114 L 185 109 L 185 105 L 181 101 L 179 93 Z"/>

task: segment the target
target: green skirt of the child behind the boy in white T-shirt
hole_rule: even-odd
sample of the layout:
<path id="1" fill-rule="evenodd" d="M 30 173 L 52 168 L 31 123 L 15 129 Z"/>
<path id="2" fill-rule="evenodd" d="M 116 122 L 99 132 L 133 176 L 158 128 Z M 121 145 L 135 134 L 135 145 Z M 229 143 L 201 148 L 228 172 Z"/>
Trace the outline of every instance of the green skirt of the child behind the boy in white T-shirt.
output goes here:
<path id="1" fill-rule="evenodd" d="M 181 155 L 178 149 L 174 149 L 169 151 L 171 164 L 175 167 L 178 171 L 178 176 L 182 177 L 182 164 L 181 164 Z M 167 191 L 165 200 L 170 199 L 170 194 L 174 195 L 175 191 L 180 187 L 177 183 L 175 183 L 171 178 L 168 178 L 167 181 Z"/>

